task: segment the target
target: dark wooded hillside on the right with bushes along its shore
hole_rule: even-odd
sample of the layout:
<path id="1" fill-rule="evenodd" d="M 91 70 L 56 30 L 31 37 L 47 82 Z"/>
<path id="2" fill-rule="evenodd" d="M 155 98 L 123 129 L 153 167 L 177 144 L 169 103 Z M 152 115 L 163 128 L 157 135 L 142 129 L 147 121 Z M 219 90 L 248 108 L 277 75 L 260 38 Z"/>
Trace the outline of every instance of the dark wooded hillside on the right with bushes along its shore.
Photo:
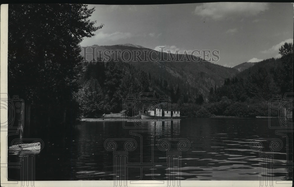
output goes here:
<path id="1" fill-rule="evenodd" d="M 199 105 L 174 104 L 189 116 L 268 116 L 268 101 L 273 95 L 293 92 L 293 44 L 280 48 L 282 58 L 270 58 L 225 79 L 221 87 L 211 87 L 208 102 Z M 277 116 L 277 109 L 271 111 Z"/>

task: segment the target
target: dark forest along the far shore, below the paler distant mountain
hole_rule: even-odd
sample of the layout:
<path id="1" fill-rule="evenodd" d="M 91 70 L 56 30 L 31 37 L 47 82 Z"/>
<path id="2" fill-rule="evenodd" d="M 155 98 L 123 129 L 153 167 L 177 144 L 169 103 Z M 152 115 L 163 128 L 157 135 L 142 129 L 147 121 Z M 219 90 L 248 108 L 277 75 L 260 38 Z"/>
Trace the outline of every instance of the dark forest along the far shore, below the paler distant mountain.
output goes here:
<path id="1" fill-rule="evenodd" d="M 268 116 L 268 100 L 272 95 L 292 92 L 293 44 L 281 46 L 280 54 L 282 58 L 255 63 L 226 78 L 222 85 L 208 88 L 209 93 L 198 92 L 196 96 L 189 94 L 190 84 L 174 84 L 181 78 L 171 81 L 168 74 L 154 76 L 150 70 L 156 67 L 143 71 L 135 63 L 91 60 L 80 67 L 84 75 L 79 80 L 81 88 L 76 99 L 82 117 L 120 112 L 126 95 L 138 96 L 140 92 L 154 92 L 157 98 L 165 95 L 170 99 L 171 109 L 181 110 L 186 116 Z"/>

